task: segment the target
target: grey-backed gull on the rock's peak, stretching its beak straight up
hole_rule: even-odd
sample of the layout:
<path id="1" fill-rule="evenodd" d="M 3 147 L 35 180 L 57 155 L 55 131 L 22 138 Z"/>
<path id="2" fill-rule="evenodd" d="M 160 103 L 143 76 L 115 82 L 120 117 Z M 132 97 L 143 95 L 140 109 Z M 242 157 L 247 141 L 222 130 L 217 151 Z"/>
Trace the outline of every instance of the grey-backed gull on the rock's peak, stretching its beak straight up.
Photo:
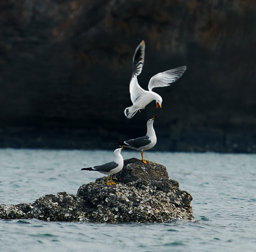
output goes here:
<path id="1" fill-rule="evenodd" d="M 115 142 L 120 147 L 128 147 L 133 150 L 141 151 L 142 162 L 147 163 L 146 160 L 143 159 L 143 151 L 149 150 L 155 146 L 157 143 L 157 137 L 155 130 L 153 128 L 154 120 L 157 116 L 154 116 L 152 119 L 149 119 L 147 122 L 147 134 L 142 137 L 138 137 L 135 139 L 130 139 L 124 142 Z"/>

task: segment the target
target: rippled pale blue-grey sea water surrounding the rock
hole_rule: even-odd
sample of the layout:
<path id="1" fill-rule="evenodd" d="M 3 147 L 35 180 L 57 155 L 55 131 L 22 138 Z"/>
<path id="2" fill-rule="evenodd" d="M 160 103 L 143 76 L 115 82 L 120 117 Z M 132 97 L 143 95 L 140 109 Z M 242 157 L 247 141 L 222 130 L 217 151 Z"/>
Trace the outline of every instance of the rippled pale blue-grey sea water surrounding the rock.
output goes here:
<path id="1" fill-rule="evenodd" d="M 140 153 L 123 150 L 124 159 Z M 91 224 L 0 220 L 0 251 L 256 251 L 256 155 L 144 152 L 188 191 L 195 221 Z M 0 204 L 76 194 L 102 176 L 82 167 L 113 151 L 0 149 Z"/>

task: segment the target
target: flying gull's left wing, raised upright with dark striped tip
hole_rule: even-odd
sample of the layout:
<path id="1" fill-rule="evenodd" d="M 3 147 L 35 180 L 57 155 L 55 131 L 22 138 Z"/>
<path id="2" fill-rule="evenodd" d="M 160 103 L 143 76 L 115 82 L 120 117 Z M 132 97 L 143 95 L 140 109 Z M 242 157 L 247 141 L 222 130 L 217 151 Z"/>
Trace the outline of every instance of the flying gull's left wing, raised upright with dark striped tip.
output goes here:
<path id="1" fill-rule="evenodd" d="M 141 73 L 144 64 L 144 54 L 145 42 L 142 40 L 133 55 L 133 74 L 130 81 L 130 97 L 133 104 L 141 95 L 145 93 L 145 90 L 139 86 L 137 80 L 137 76 Z"/>

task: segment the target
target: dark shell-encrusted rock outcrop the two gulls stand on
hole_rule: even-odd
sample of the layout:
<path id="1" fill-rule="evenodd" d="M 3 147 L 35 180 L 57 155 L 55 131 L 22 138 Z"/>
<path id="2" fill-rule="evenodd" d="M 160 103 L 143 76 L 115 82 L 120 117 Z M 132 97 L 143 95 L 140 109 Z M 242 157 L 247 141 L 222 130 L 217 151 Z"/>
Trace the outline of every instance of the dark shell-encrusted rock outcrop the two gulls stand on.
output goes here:
<path id="1" fill-rule="evenodd" d="M 168 178 L 165 166 L 124 161 L 116 174 L 117 184 L 106 185 L 106 177 L 82 185 L 77 195 L 66 192 L 44 195 L 34 203 L 0 205 L 2 219 L 43 221 L 88 221 L 93 223 L 171 222 L 192 220 L 192 196 Z"/>

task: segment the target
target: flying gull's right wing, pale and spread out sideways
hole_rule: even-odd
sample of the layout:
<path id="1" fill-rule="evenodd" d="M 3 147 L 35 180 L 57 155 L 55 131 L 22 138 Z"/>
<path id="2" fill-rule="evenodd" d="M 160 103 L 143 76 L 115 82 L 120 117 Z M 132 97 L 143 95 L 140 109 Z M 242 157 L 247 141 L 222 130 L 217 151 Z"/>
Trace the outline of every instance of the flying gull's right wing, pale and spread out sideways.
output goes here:
<path id="1" fill-rule="evenodd" d="M 169 86 L 169 83 L 178 80 L 186 69 L 186 66 L 181 66 L 154 75 L 149 81 L 148 90 L 151 91 L 153 88 Z"/>

